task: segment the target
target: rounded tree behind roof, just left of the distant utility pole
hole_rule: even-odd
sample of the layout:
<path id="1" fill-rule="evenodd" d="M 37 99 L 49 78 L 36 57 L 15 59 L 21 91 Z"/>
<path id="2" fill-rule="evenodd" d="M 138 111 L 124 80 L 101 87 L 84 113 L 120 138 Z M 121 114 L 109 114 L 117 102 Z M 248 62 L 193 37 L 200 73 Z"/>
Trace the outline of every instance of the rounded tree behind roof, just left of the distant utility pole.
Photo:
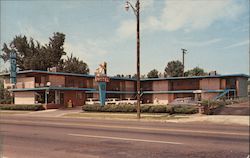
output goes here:
<path id="1" fill-rule="evenodd" d="M 179 60 L 170 61 L 165 67 L 165 77 L 180 77 L 183 75 L 183 70 L 184 66 Z"/>

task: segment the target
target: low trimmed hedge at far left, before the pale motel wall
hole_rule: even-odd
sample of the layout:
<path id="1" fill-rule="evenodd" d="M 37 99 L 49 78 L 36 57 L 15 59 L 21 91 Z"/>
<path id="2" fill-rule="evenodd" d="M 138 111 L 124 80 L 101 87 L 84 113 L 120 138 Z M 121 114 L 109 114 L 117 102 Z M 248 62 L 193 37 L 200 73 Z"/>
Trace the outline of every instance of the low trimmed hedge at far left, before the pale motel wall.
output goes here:
<path id="1" fill-rule="evenodd" d="M 0 110 L 44 110 L 43 105 L 0 105 Z"/>

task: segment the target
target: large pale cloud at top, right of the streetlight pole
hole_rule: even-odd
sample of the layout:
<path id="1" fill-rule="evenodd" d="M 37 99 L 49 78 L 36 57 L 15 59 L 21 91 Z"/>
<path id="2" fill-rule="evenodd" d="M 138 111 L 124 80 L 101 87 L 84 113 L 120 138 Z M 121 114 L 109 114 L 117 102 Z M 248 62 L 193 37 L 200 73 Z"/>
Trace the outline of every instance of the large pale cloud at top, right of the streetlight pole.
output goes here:
<path id="1" fill-rule="evenodd" d="M 152 29 L 167 31 L 204 29 L 218 20 L 237 18 L 243 8 L 232 0 L 168 0 L 161 16 L 149 17 L 147 24 Z"/>

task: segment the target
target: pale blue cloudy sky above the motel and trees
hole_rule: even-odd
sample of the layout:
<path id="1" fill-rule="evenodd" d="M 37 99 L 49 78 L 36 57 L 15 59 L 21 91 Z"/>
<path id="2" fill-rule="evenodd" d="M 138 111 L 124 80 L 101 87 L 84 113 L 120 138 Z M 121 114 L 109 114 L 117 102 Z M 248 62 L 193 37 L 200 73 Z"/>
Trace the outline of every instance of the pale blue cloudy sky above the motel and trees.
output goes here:
<path id="1" fill-rule="evenodd" d="M 16 35 L 46 44 L 62 32 L 67 55 L 86 62 L 90 74 L 106 61 L 108 75 L 133 75 L 136 16 L 125 2 L 1 0 L 1 48 Z M 141 74 L 163 73 L 169 61 L 182 61 L 181 48 L 187 49 L 185 70 L 249 74 L 249 0 L 140 0 L 140 6 Z"/>

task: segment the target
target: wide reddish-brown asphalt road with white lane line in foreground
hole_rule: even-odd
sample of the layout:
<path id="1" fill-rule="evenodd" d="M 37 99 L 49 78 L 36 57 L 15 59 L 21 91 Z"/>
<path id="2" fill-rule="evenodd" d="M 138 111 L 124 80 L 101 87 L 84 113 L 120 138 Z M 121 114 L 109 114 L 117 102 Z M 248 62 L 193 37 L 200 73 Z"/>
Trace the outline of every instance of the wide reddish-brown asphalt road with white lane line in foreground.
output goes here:
<path id="1" fill-rule="evenodd" d="M 5 115 L 7 158 L 246 158 L 249 127 Z"/>

